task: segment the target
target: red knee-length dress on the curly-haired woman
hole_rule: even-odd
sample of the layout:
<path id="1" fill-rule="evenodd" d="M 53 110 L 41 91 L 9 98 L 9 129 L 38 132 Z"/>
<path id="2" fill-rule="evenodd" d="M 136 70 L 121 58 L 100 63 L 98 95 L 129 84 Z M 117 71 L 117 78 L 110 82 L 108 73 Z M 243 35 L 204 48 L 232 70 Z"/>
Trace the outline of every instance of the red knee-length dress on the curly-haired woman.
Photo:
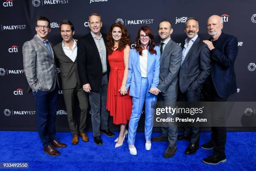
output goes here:
<path id="1" fill-rule="evenodd" d="M 113 116 L 113 123 L 116 125 L 126 124 L 130 120 L 132 109 L 132 98 L 128 94 L 121 95 L 119 89 L 123 82 L 124 61 L 123 51 L 113 51 L 108 55 L 110 75 L 108 81 L 107 110 Z"/>

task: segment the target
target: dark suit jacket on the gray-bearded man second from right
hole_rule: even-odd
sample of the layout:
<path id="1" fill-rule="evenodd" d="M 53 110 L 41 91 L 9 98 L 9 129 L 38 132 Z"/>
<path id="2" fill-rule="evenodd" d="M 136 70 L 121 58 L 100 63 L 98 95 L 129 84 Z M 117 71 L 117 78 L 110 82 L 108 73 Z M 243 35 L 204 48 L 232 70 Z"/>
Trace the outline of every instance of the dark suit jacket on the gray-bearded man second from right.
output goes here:
<path id="1" fill-rule="evenodd" d="M 191 87 L 195 91 L 202 89 L 202 85 L 209 75 L 210 50 L 197 37 L 179 69 L 179 87 L 181 92 L 186 93 Z"/>

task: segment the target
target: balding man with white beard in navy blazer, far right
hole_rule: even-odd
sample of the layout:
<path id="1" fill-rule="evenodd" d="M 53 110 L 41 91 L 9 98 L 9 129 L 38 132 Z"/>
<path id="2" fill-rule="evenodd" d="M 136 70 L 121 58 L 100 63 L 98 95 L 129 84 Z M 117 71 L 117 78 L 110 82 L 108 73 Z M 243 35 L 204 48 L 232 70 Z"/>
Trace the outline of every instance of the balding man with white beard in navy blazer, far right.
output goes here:
<path id="1" fill-rule="evenodd" d="M 234 63 L 238 54 L 238 40 L 235 36 L 224 34 L 222 28 L 223 19 L 220 16 L 212 15 L 208 19 L 207 31 L 211 38 L 204 43 L 210 49 L 211 74 L 205 82 L 203 94 L 205 101 L 209 102 L 226 102 L 228 97 L 236 92 Z M 224 114 L 225 107 L 219 107 L 218 111 L 212 112 L 212 124 L 223 122 Z M 214 153 L 202 161 L 207 164 L 225 162 L 226 128 L 212 127 L 211 137 L 211 140 L 201 147 L 214 148 Z"/>

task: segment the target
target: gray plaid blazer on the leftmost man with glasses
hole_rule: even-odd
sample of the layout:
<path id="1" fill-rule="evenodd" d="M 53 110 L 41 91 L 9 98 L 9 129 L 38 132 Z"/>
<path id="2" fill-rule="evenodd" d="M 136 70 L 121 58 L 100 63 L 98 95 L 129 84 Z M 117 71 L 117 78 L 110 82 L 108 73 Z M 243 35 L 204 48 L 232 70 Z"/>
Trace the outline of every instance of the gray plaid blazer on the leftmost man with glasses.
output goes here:
<path id="1" fill-rule="evenodd" d="M 44 43 L 35 35 L 22 47 L 24 73 L 28 81 L 28 92 L 38 89 L 51 92 L 56 86 L 57 73 L 54 62 L 54 51 L 50 44 L 53 57 Z M 57 80 L 58 81 L 58 80 Z"/>

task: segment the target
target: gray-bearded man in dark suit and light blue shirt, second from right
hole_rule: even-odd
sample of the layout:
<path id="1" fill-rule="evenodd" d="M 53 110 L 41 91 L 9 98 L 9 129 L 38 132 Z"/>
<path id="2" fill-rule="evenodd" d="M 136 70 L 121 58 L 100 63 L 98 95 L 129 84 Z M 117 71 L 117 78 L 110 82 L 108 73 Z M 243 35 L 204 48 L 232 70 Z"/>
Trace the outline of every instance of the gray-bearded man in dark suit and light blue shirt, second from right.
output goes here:
<path id="1" fill-rule="evenodd" d="M 182 51 L 179 71 L 180 102 L 200 102 L 202 86 L 210 75 L 210 51 L 198 37 L 199 25 L 196 18 L 185 22 L 187 38 Z M 200 127 L 185 127 L 184 134 L 178 140 L 189 140 L 185 154 L 195 154 L 199 148 Z"/>

